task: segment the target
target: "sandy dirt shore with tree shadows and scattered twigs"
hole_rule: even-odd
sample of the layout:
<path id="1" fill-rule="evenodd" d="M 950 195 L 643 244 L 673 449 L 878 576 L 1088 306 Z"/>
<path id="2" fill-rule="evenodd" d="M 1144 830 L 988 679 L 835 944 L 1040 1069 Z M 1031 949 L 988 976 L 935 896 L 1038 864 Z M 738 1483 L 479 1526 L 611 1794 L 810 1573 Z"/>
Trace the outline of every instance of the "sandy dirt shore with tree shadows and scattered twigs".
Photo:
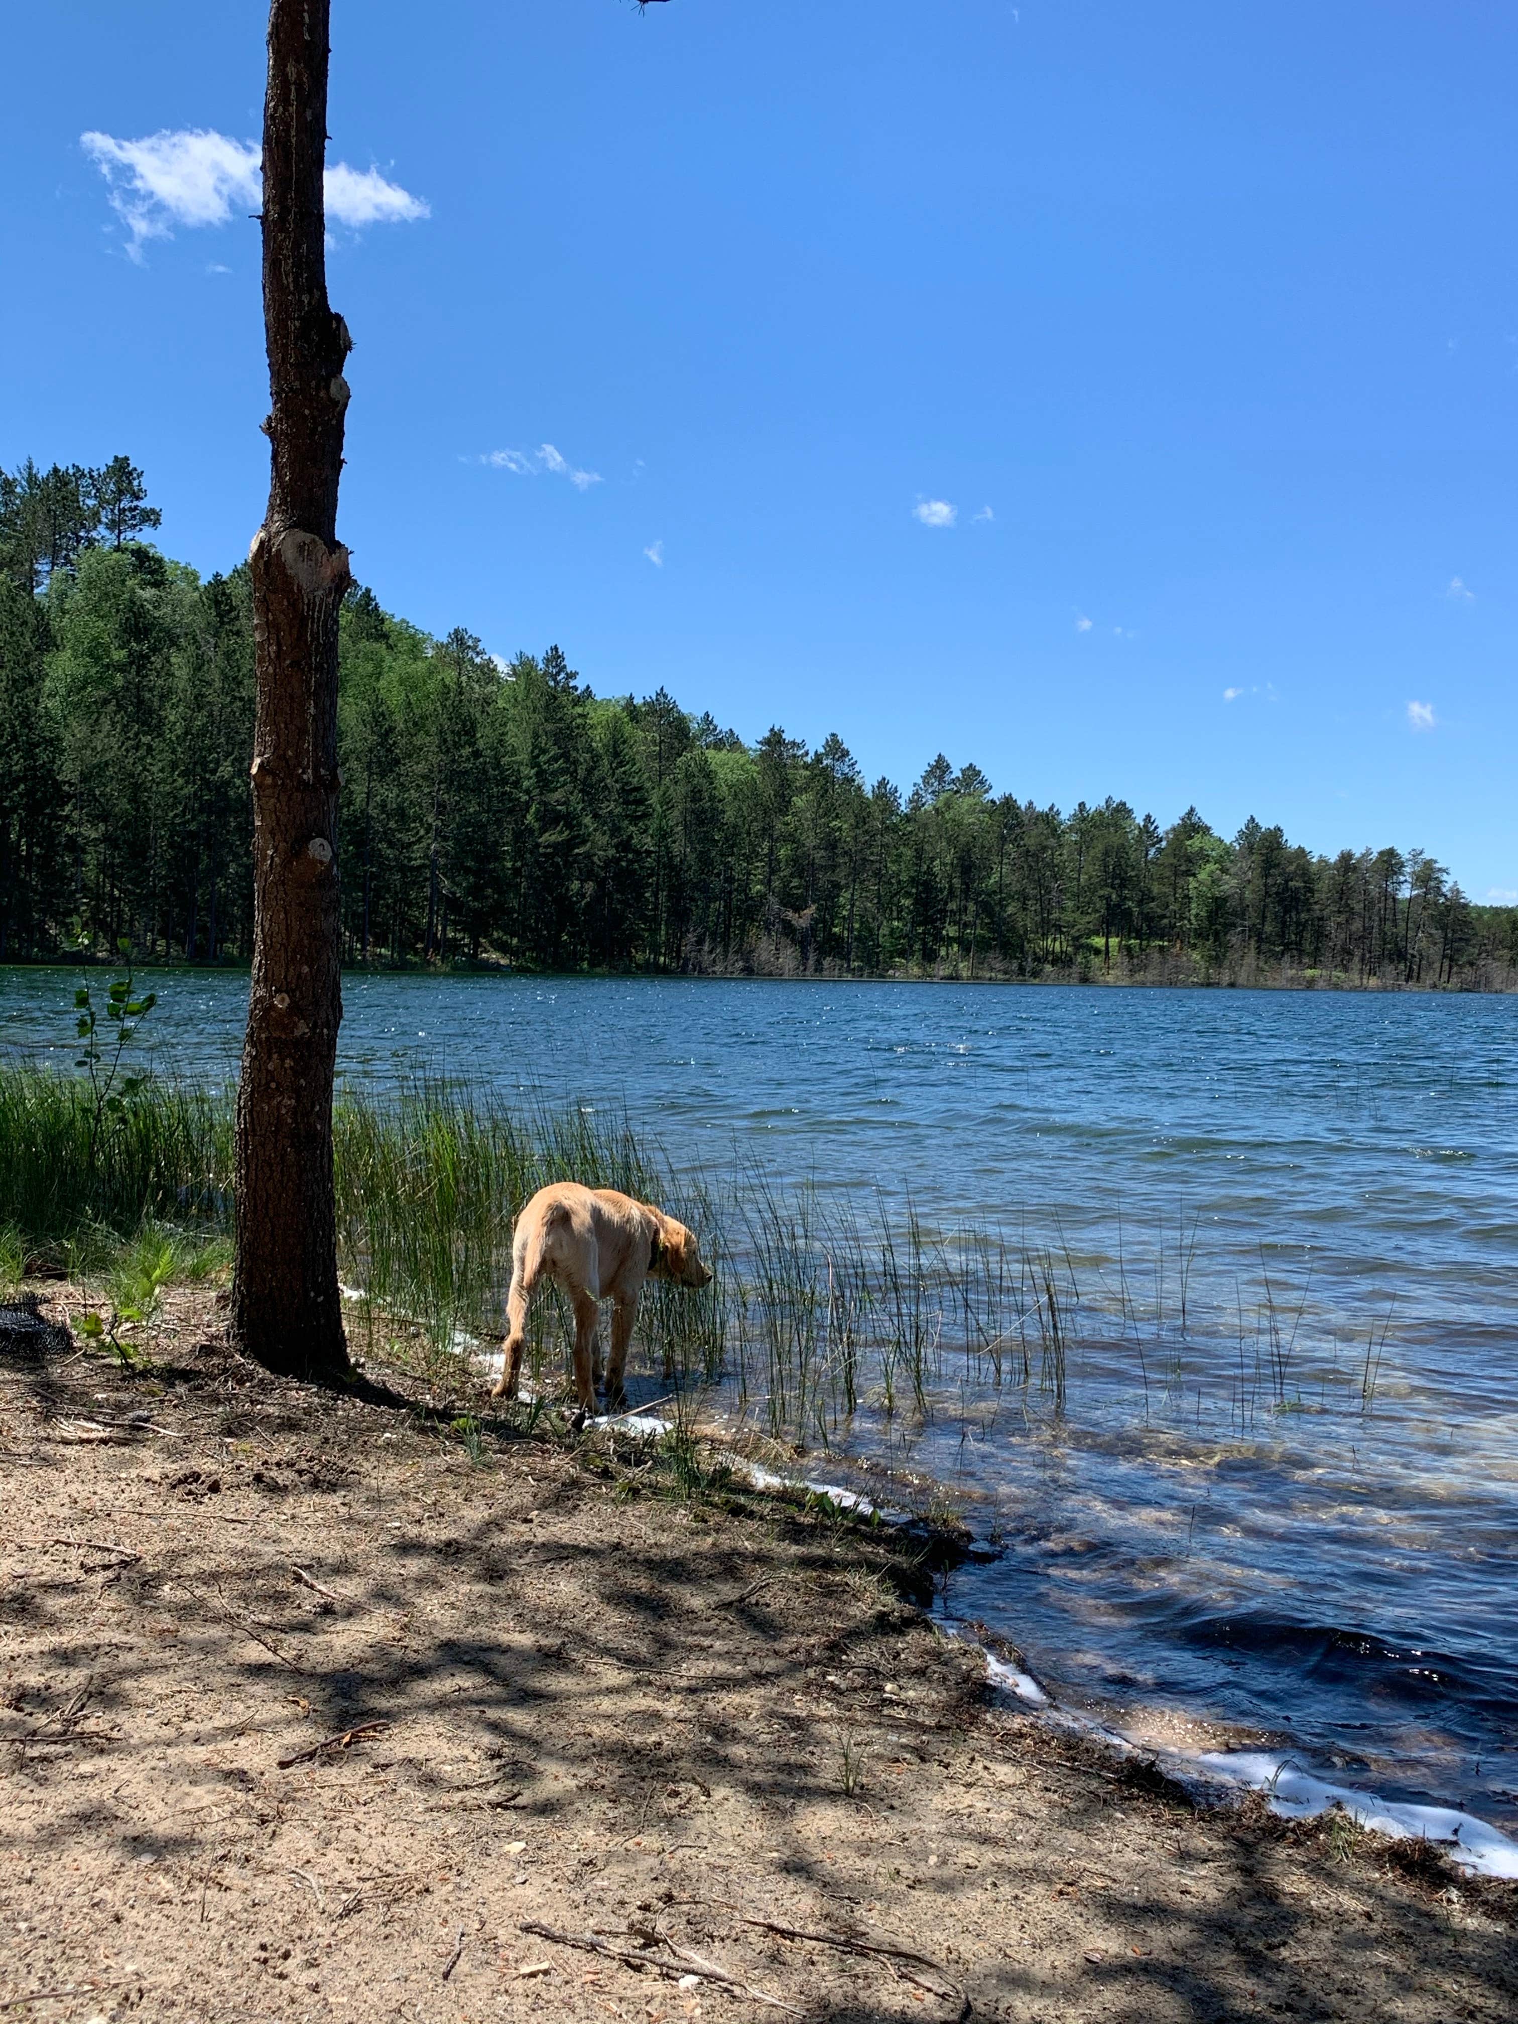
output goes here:
<path id="1" fill-rule="evenodd" d="M 1518 1890 L 998 1704 L 903 1544 L 152 1358 L 0 1356 L 0 2016 L 1518 2016 Z"/>

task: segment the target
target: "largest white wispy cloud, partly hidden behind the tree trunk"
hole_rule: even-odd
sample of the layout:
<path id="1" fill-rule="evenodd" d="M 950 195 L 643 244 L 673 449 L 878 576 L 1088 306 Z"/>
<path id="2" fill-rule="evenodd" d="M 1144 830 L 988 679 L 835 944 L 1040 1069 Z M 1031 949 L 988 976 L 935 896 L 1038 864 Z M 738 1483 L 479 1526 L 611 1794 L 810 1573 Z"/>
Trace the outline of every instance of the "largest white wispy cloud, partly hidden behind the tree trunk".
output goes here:
<path id="1" fill-rule="evenodd" d="M 111 208 L 128 229 L 128 253 L 142 259 L 150 239 L 172 239 L 176 225 L 227 225 L 263 202 L 259 144 L 210 128 L 178 128 L 144 140 L 81 134 L 79 146 L 111 190 Z M 324 178 L 328 223 L 397 225 L 431 217 L 421 196 L 389 182 L 376 168 L 334 162 Z"/>

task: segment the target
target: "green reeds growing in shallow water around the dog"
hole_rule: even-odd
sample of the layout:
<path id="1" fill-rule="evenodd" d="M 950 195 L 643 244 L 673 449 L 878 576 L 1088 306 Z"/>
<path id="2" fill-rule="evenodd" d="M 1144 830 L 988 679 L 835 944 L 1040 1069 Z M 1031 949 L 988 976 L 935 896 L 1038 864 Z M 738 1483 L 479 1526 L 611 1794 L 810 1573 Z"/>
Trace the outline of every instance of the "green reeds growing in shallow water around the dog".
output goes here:
<path id="1" fill-rule="evenodd" d="M 109 1283 L 148 1251 L 180 1277 L 225 1259 L 233 1093 L 150 1081 L 91 1158 L 95 1125 L 79 1079 L 0 1067 L 0 1281 L 53 1263 Z M 1140 1299 L 1121 1239 L 1113 1261 L 1077 1261 L 1059 1225 L 1055 1241 L 943 1231 L 911 1202 L 785 1188 L 761 1170 L 692 1180 L 625 1121 L 506 1109 L 449 1083 L 342 1095 L 334 1148 L 350 1330 L 419 1362 L 447 1397 L 480 1388 L 480 1354 L 502 1334 L 516 1212 L 544 1182 L 575 1178 L 660 1202 L 714 1265 L 700 1293 L 648 1283 L 634 1368 L 680 1403 L 721 1386 L 785 1445 L 834 1447 L 860 1413 L 923 1425 L 972 1395 L 1014 1395 L 1057 1425 L 1077 1386 L 1125 1395 L 1146 1421 L 1192 1403 L 1200 1419 L 1206 1388 L 1227 1397 L 1235 1437 L 1261 1413 L 1301 1409 L 1314 1384 L 1320 1405 L 1374 1409 L 1388 1320 L 1364 1368 L 1340 1372 L 1332 1332 L 1308 1346 L 1310 1273 L 1289 1291 L 1263 1249 L 1259 1299 L 1247 1305 L 1241 1285 L 1231 1332 L 1196 1328 L 1196 1216 L 1160 1235 Z M 567 1303 L 544 1291 L 528 1336 L 534 1390 L 561 1384 L 571 1336 Z"/>

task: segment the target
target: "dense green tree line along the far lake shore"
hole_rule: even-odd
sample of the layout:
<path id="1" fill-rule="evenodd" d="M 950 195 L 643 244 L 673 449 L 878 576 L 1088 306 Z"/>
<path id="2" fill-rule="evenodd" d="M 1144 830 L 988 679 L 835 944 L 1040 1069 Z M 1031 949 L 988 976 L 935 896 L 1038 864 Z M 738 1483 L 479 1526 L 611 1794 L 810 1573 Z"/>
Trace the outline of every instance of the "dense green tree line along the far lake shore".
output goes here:
<path id="1" fill-rule="evenodd" d="M 142 474 L 0 474 L 0 961 L 251 943 L 247 569 L 140 536 Z M 755 745 L 559 648 L 502 664 L 366 589 L 342 615 L 354 963 L 1510 988 L 1518 909 L 1423 850 L 1314 856 L 1125 802 L 1061 814 L 933 759 L 903 793 L 830 735 Z"/>

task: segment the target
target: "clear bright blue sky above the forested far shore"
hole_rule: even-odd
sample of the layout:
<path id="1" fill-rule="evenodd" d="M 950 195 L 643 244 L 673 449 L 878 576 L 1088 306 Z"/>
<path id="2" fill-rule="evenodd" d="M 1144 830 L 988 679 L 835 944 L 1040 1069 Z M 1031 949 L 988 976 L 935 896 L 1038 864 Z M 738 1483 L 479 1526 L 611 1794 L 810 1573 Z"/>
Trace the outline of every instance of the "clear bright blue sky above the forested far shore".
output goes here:
<path id="1" fill-rule="evenodd" d="M 354 569 L 870 777 L 1518 897 L 1516 57 L 1498 4 L 336 0 Z M 249 158 L 107 142 L 255 142 L 261 8 L 6 59 L 0 461 L 125 449 L 227 567 Z"/>

